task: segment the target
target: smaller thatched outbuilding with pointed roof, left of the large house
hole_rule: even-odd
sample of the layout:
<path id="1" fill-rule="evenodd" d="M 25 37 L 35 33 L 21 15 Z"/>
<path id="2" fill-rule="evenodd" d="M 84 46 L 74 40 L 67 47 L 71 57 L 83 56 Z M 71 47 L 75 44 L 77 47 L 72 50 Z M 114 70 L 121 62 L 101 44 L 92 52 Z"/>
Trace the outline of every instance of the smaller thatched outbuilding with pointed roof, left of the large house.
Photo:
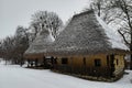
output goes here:
<path id="1" fill-rule="evenodd" d="M 44 48 L 46 48 L 46 46 L 51 45 L 55 41 L 50 30 L 45 26 L 41 28 L 42 32 L 37 34 L 36 38 L 33 41 L 33 43 L 30 45 L 30 47 L 24 53 L 24 57 L 28 61 L 29 67 L 43 66 L 47 68 L 48 59 L 53 58 L 51 56 L 43 55 Z"/>

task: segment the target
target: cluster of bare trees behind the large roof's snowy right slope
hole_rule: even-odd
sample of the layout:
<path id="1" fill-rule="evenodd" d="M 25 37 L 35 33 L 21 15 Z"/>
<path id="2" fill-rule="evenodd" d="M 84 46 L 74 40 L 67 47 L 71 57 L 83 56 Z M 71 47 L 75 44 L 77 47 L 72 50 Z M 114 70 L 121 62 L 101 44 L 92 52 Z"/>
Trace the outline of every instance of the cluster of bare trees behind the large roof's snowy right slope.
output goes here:
<path id="1" fill-rule="evenodd" d="M 100 2 L 101 1 L 101 2 Z M 96 7 L 102 20 L 108 24 L 116 24 L 124 43 L 132 52 L 132 0 L 97 0 Z M 102 8 L 103 6 L 103 8 Z M 131 55 L 132 69 L 132 55 Z"/>

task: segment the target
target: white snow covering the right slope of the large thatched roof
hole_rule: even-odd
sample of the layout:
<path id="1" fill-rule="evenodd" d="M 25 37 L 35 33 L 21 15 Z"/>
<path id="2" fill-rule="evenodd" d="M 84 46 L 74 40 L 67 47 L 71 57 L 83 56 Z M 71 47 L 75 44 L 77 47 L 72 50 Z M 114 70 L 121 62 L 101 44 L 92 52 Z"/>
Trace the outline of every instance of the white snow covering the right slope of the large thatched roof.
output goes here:
<path id="1" fill-rule="evenodd" d="M 122 43 L 121 36 L 116 34 L 112 28 L 108 26 L 108 24 L 106 24 L 97 14 L 96 18 L 109 37 L 109 42 L 112 44 L 112 48 L 129 50 L 128 46 Z"/>

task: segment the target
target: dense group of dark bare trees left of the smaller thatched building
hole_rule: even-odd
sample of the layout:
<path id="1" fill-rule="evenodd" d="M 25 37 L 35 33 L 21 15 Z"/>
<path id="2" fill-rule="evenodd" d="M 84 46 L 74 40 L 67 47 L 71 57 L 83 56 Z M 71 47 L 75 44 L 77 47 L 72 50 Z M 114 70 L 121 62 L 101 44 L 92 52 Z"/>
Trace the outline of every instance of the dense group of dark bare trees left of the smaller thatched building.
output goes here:
<path id="1" fill-rule="evenodd" d="M 29 47 L 28 29 L 18 26 L 13 36 L 7 36 L 1 41 L 1 57 L 11 61 L 12 64 L 21 64 L 23 62 L 23 53 Z"/>

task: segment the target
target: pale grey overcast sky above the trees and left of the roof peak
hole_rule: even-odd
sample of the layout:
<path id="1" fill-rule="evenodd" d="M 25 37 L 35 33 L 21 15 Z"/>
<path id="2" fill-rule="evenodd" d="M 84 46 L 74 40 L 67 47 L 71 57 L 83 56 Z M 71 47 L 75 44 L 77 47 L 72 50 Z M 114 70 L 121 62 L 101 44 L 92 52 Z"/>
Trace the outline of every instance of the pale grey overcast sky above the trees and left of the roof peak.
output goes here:
<path id="1" fill-rule="evenodd" d="M 89 0 L 0 0 L 0 38 L 13 35 L 18 25 L 29 26 L 37 10 L 56 12 L 66 22 L 89 6 Z"/>

